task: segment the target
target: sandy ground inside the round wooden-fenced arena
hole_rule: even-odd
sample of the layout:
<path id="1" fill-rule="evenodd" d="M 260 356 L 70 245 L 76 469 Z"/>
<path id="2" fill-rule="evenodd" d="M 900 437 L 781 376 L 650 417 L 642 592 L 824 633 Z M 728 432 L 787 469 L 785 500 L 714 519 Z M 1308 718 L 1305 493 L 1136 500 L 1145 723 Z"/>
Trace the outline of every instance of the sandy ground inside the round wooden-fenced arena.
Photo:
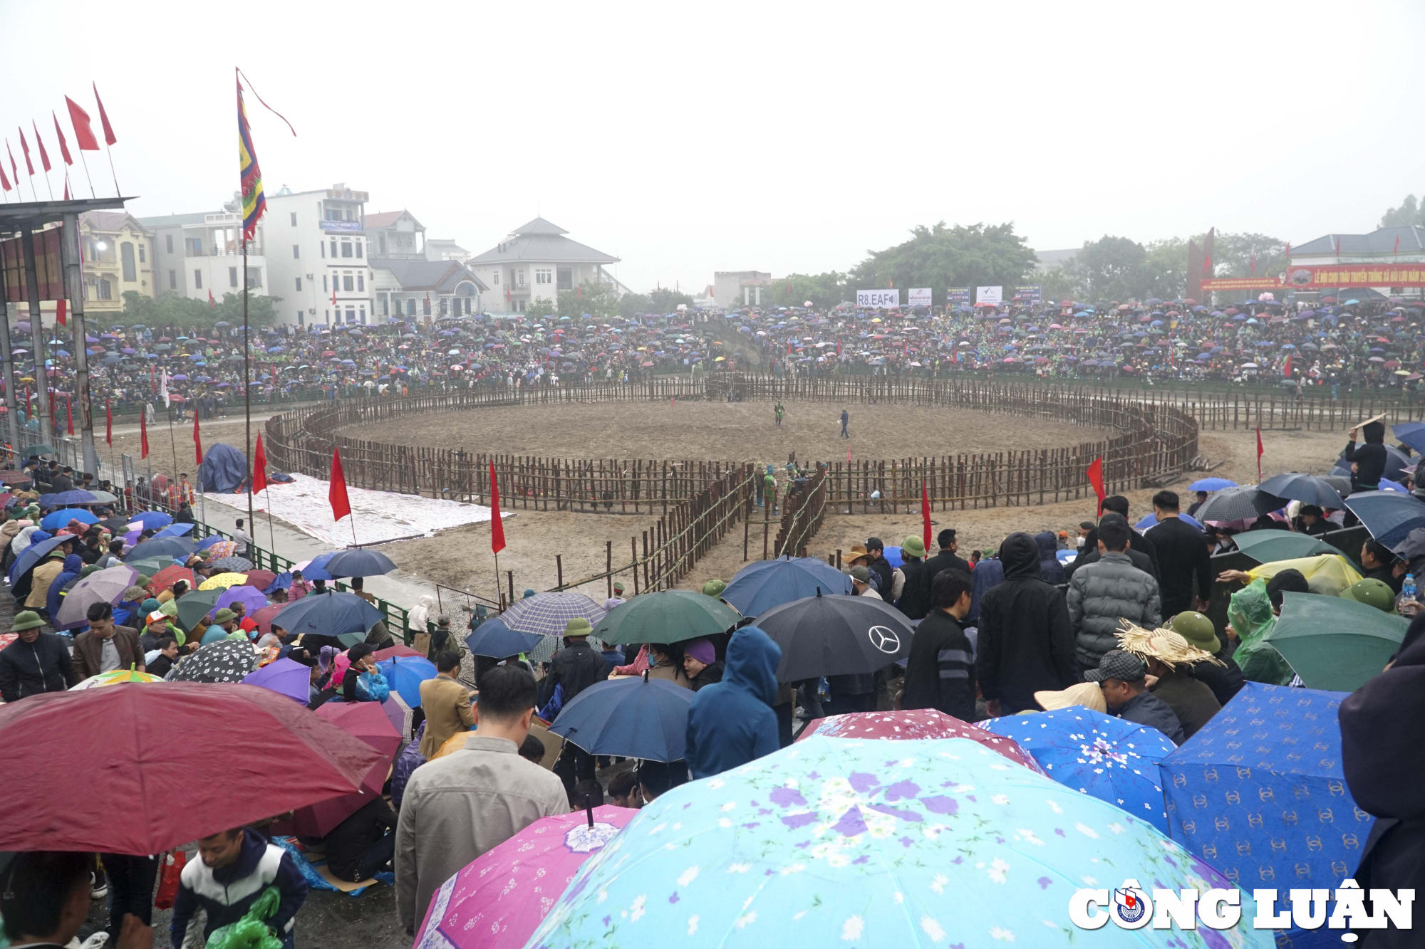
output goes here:
<path id="1" fill-rule="evenodd" d="M 343 435 L 402 445 L 465 447 L 550 457 L 802 460 L 913 457 L 992 452 L 1013 445 L 1072 445 L 1104 437 L 1097 429 L 969 409 L 849 405 L 851 439 L 839 437 L 841 406 L 788 402 L 782 425 L 767 402 L 614 402 L 503 406 L 440 412 Z"/>

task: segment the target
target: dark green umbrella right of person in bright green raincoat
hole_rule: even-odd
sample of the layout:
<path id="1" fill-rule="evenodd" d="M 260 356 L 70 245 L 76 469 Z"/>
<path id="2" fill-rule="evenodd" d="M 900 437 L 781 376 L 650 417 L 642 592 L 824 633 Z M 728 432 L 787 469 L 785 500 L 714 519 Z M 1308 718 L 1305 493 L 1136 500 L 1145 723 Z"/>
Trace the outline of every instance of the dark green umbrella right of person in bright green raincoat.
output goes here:
<path id="1" fill-rule="evenodd" d="M 1315 593 L 1284 593 L 1270 643 L 1307 688 L 1354 693 L 1379 675 L 1409 621 L 1375 607 Z"/>

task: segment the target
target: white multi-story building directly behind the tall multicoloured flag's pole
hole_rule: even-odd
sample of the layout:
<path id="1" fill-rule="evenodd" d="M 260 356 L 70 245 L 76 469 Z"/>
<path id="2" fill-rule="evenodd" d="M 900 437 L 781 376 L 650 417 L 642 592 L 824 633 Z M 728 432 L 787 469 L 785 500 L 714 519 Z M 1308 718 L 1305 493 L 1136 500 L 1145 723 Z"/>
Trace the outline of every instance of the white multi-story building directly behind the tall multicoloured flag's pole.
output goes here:
<path id="1" fill-rule="evenodd" d="M 242 198 L 219 211 L 140 218 L 152 234 L 155 296 L 178 294 L 191 299 L 222 299 L 242 292 Z M 258 221 L 248 242 L 248 289 L 268 292 L 265 224 Z"/>

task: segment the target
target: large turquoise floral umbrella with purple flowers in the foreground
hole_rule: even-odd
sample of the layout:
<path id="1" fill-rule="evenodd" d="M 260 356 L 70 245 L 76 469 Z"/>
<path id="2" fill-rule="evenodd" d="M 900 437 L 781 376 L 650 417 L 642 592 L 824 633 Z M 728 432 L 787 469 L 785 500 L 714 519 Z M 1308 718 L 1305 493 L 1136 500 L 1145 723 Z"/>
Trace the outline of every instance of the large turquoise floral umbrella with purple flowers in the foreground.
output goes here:
<path id="1" fill-rule="evenodd" d="M 1231 930 L 1074 928 L 1074 891 L 1130 878 L 1233 886 L 1149 822 L 978 742 L 815 735 L 644 807 L 527 946 L 1273 946 L 1245 892 Z"/>

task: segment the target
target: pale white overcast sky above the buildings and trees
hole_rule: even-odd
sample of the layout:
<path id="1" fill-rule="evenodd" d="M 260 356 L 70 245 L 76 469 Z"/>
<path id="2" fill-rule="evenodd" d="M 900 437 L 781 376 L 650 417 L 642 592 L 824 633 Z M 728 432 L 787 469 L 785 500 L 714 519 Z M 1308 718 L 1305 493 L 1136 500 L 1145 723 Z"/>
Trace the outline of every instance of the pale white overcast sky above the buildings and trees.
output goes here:
<path id="1" fill-rule="evenodd" d="M 1369 231 L 1425 190 L 1422 40 L 1409 0 L 0 0 L 0 131 L 23 175 L 16 127 L 43 120 L 58 161 L 50 110 L 97 127 L 97 81 L 131 211 L 215 209 L 238 64 L 298 133 L 248 98 L 268 192 L 341 181 L 472 252 L 542 214 L 633 289 L 688 291 L 940 219 L 1039 249 Z"/>

